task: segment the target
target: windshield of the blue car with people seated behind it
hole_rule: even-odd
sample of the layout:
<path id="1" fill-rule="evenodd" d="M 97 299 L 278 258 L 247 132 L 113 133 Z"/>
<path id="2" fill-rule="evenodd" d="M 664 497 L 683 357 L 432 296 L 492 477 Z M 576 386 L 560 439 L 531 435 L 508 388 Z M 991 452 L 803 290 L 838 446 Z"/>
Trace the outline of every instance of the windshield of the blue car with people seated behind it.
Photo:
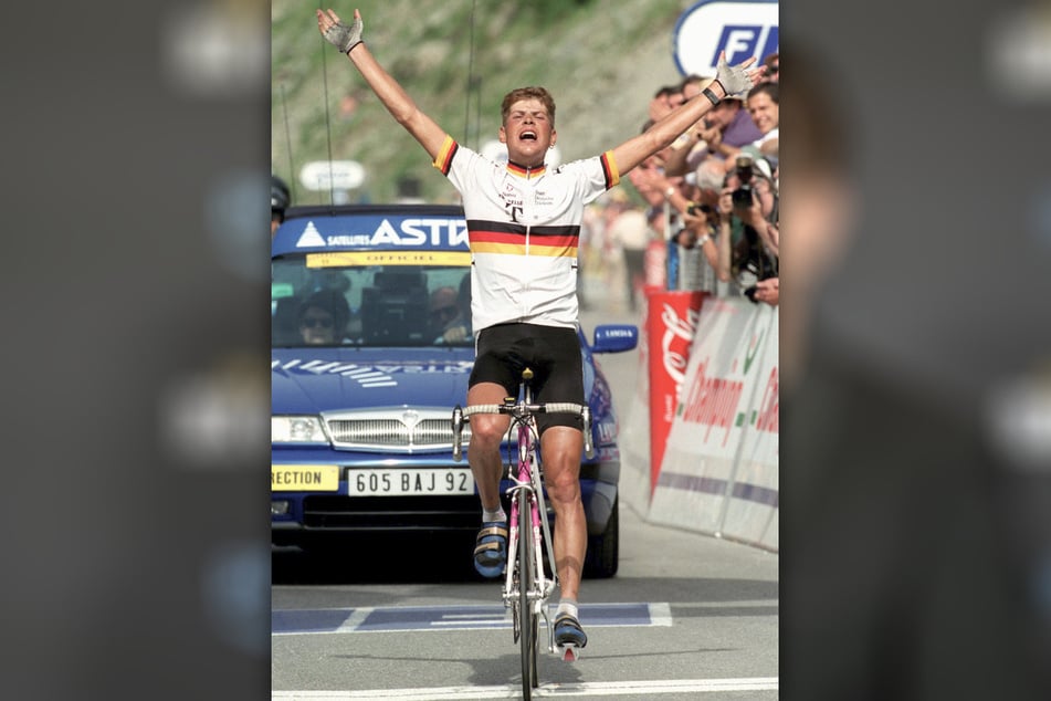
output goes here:
<path id="1" fill-rule="evenodd" d="M 470 265 L 367 264 L 338 253 L 272 263 L 274 347 L 474 343 Z"/>

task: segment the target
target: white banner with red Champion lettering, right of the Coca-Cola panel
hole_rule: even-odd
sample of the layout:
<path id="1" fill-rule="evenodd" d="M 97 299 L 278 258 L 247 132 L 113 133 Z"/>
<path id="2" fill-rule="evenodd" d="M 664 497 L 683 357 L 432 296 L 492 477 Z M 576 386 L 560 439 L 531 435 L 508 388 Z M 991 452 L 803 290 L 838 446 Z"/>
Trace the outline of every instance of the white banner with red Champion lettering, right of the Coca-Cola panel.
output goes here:
<path id="1" fill-rule="evenodd" d="M 649 521 L 776 550 L 777 448 L 777 311 L 705 300 Z"/>

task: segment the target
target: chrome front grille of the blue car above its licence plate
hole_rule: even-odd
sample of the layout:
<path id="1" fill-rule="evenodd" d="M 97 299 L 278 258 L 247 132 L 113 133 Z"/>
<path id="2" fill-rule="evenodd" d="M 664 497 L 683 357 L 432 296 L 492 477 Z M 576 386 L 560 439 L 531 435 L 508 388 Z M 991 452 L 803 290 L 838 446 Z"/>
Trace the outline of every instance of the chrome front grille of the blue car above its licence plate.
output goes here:
<path id="1" fill-rule="evenodd" d="M 339 450 L 377 452 L 428 452 L 452 450 L 451 409 L 370 409 L 323 415 L 333 447 Z M 471 439 L 464 426 L 463 444 Z"/>

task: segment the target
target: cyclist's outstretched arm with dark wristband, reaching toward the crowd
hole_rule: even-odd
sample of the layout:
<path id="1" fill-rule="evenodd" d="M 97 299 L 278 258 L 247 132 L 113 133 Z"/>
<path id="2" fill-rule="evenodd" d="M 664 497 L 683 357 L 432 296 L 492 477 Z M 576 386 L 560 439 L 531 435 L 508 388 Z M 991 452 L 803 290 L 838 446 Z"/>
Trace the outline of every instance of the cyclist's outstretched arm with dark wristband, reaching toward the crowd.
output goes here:
<path id="1" fill-rule="evenodd" d="M 752 87 L 766 71 L 766 66 L 749 70 L 748 66 L 755 62 L 756 57 L 752 56 L 738 65 L 727 65 L 726 54 L 721 52 L 715 80 L 704 92 L 675 107 L 649 129 L 613 149 L 620 175 L 623 176 L 653 154 L 668 148 L 680 134 L 696 124 L 726 95 L 736 95 Z"/>

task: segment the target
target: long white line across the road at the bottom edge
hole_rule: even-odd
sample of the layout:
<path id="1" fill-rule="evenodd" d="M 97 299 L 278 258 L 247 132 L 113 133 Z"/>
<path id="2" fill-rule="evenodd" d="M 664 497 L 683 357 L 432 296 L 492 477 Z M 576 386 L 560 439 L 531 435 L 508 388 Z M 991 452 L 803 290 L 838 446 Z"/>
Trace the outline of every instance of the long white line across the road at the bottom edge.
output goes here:
<path id="1" fill-rule="evenodd" d="M 654 693 L 713 693 L 726 691 L 777 691 L 777 677 L 740 679 L 665 679 L 655 681 L 606 681 L 540 684 L 534 697 L 619 697 Z M 500 687 L 435 687 L 432 689 L 371 689 L 361 691 L 274 691 L 272 701 L 445 701 L 452 699 L 517 699 L 518 684 Z"/>

